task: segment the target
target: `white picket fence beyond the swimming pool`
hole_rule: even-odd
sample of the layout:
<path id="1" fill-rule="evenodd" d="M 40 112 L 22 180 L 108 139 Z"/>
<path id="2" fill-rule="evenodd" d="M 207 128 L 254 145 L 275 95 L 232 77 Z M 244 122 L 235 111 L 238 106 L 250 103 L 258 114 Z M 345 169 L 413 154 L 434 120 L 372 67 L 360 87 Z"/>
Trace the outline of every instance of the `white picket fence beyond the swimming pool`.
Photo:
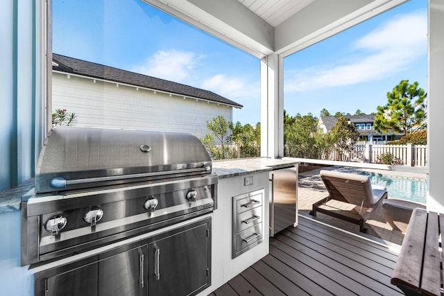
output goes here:
<path id="1" fill-rule="evenodd" d="M 395 164 L 404 166 L 426 166 L 427 145 L 356 145 L 348 156 L 350 162 L 381 163 L 382 157 L 391 154 Z"/>

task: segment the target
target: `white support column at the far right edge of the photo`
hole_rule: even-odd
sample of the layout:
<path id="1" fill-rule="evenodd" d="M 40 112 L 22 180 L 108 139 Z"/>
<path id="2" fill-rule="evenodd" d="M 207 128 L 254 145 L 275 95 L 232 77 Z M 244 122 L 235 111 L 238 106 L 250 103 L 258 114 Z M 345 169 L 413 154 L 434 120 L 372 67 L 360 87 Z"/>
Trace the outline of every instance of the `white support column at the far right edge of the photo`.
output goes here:
<path id="1" fill-rule="evenodd" d="M 427 209 L 444 212 L 444 133 L 442 132 L 444 101 L 442 80 L 444 77 L 444 4 L 442 0 L 429 0 L 428 19 L 428 128 L 427 159 L 429 180 L 427 182 Z"/>

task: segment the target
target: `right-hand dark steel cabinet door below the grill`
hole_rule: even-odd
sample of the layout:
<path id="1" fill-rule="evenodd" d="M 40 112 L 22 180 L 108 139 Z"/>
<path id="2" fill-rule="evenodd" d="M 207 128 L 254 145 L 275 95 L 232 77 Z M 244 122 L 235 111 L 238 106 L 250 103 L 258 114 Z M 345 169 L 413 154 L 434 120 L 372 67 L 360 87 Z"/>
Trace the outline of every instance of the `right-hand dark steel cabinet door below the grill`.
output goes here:
<path id="1" fill-rule="evenodd" d="M 210 286 L 210 222 L 173 230 L 148 245 L 149 295 L 195 295 Z"/>

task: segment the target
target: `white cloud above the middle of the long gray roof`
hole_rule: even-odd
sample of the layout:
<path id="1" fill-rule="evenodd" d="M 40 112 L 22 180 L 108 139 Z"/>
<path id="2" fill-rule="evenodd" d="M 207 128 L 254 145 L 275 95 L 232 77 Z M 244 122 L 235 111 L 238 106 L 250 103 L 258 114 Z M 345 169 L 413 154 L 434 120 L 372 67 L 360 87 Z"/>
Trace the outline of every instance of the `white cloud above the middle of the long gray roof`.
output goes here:
<path id="1" fill-rule="evenodd" d="M 147 58 L 144 64 L 134 67 L 132 71 L 156 78 L 184 82 L 202 57 L 202 55 L 190 51 L 174 49 L 157 51 Z"/>

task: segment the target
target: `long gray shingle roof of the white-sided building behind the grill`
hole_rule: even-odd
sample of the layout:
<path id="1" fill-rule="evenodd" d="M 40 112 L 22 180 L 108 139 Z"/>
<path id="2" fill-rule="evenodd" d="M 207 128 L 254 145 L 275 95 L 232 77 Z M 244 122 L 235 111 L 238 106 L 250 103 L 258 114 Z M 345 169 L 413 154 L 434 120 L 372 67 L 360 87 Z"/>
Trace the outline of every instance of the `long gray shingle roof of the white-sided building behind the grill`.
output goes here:
<path id="1" fill-rule="evenodd" d="M 241 108 L 243 105 L 214 94 L 205 89 L 191 87 L 189 85 L 182 85 L 177 82 L 146 76 L 143 74 L 125 71 L 114 67 L 108 67 L 103 64 L 96 64 L 94 62 L 86 62 L 75 58 L 69 58 L 65 55 L 58 55 L 53 53 L 53 70 L 62 71 L 66 73 L 78 74 L 81 76 L 88 76 L 103 80 L 110 80 L 113 82 L 125 83 L 128 85 L 135 85 L 137 87 L 146 87 L 162 92 L 169 92 L 171 94 L 178 94 L 180 96 L 189 96 L 191 98 L 202 98 L 207 101 L 215 103 L 222 103 L 231 105 L 233 107 Z"/>

